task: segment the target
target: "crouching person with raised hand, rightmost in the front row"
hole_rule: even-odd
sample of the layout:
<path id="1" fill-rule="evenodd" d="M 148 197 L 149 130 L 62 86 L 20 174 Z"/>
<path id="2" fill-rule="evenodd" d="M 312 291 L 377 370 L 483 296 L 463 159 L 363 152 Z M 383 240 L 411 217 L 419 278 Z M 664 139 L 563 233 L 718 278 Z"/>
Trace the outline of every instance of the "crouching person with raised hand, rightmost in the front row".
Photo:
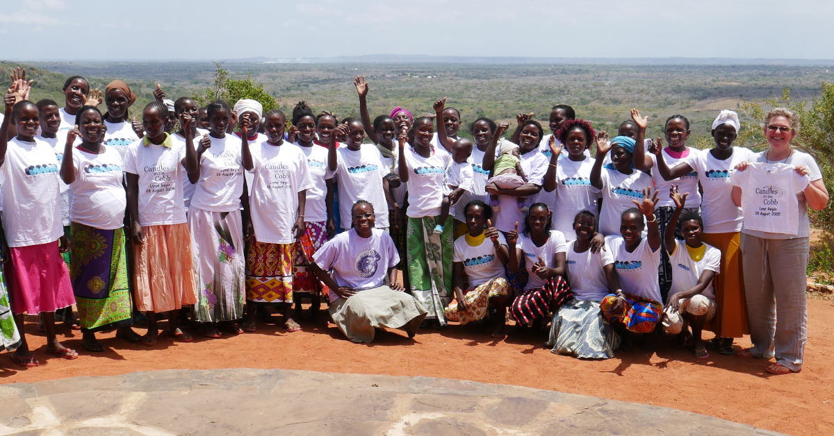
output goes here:
<path id="1" fill-rule="evenodd" d="M 716 293 L 712 279 L 721 271 L 721 251 L 701 242 L 704 224 L 697 213 L 685 213 L 686 196 L 678 192 L 678 186 L 669 188 L 669 197 L 675 202 L 675 212 L 670 223 L 677 223 L 684 240 L 675 238 L 675 226 L 666 226 L 663 248 L 669 253 L 672 266 L 672 283 L 663 327 L 666 333 L 677 334 L 680 343 L 689 342 L 696 358 L 708 358 L 701 329 L 704 323 L 716 316 Z"/>

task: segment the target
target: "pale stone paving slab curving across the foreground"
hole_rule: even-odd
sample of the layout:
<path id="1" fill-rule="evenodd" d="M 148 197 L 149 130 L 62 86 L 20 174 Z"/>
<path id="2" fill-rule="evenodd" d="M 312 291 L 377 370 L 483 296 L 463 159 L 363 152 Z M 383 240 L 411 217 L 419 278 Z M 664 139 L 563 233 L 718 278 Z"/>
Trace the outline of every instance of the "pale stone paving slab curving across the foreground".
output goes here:
<path id="1" fill-rule="evenodd" d="M 519 386 L 285 369 L 0 385 L 0 434 L 777 434 L 672 408 Z"/>

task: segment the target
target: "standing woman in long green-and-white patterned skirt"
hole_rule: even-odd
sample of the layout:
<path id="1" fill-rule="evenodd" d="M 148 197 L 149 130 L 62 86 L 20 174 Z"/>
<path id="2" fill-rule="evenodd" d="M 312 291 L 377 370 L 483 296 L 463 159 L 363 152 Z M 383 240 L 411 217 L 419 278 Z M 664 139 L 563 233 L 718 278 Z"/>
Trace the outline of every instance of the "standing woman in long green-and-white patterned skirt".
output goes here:
<path id="1" fill-rule="evenodd" d="M 451 217 L 438 222 L 446 184 L 446 167 L 451 155 L 437 153 L 431 145 L 435 133 L 431 118 L 414 120 L 414 143 L 408 148 L 408 132 L 399 133 L 397 170 L 408 187 L 409 208 L 406 230 L 410 291 L 435 325 L 446 325 L 444 308 L 452 299 L 452 225 Z M 442 233 L 435 233 L 437 225 Z"/>

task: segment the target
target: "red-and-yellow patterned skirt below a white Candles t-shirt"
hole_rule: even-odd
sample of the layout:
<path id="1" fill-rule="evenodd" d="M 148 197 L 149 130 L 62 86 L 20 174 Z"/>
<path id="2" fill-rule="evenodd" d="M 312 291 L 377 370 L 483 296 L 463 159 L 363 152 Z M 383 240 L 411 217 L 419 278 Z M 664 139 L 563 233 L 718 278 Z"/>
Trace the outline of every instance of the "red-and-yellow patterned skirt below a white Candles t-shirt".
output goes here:
<path id="1" fill-rule="evenodd" d="M 246 299 L 293 303 L 294 253 L 294 243 L 250 243 L 246 253 Z"/>

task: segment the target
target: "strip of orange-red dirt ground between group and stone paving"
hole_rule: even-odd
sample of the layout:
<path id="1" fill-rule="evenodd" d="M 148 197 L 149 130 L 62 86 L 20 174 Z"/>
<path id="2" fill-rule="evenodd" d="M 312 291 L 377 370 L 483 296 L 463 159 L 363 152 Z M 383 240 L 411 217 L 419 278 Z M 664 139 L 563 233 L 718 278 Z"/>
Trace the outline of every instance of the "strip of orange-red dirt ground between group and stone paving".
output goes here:
<path id="1" fill-rule="evenodd" d="M 81 333 L 60 332 L 64 343 L 82 355 L 73 361 L 48 356 L 45 338 L 27 325 L 31 347 L 41 363 L 23 369 L 0 358 L 0 383 L 37 382 L 78 375 L 113 375 L 170 368 L 286 368 L 337 373 L 375 373 L 459 378 L 582 393 L 705 413 L 783 433 L 834 432 L 834 301 L 809 298 L 806 364 L 801 373 L 771 376 L 767 363 L 715 352 L 696 359 L 687 350 L 620 352 L 609 360 L 579 360 L 540 347 L 544 338 L 510 328 L 510 336 L 490 338 L 485 326 L 421 330 L 414 341 L 404 333 L 379 333 L 374 343 L 344 339 L 334 324 L 302 322 L 304 330 L 286 333 L 278 325 L 258 333 L 221 339 L 197 337 L 174 343 L 163 336 L 153 348 L 101 334 L 109 348 L 88 353 Z M 34 317 L 29 317 L 34 321 Z M 164 325 L 164 323 L 162 324 Z M 143 328 L 137 328 L 144 333 Z M 192 332 L 194 333 L 194 332 Z M 711 333 L 705 333 L 705 338 Z M 749 338 L 736 340 L 749 346 Z"/>

